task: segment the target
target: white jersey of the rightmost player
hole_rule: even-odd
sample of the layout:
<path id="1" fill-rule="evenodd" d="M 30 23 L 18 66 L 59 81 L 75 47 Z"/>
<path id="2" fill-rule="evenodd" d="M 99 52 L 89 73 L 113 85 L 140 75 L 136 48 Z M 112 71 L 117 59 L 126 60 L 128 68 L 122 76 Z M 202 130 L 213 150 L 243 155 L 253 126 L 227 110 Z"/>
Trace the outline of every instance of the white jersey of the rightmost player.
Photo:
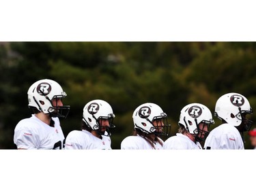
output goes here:
<path id="1" fill-rule="evenodd" d="M 244 150 L 244 143 L 235 126 L 221 124 L 210 132 L 205 140 L 204 149 Z"/>

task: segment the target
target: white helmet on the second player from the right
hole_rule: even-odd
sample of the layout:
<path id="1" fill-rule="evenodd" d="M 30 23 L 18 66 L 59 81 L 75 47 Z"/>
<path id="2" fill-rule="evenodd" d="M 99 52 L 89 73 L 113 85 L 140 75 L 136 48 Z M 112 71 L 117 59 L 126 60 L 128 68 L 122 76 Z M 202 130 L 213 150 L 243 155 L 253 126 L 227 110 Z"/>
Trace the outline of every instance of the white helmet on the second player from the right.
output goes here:
<path id="1" fill-rule="evenodd" d="M 184 126 L 190 134 L 195 135 L 197 141 L 205 141 L 210 132 L 200 129 L 200 123 L 203 123 L 203 126 L 206 124 L 208 129 L 210 124 L 214 124 L 212 113 L 208 107 L 201 103 L 190 103 L 183 107 L 178 124 Z"/>

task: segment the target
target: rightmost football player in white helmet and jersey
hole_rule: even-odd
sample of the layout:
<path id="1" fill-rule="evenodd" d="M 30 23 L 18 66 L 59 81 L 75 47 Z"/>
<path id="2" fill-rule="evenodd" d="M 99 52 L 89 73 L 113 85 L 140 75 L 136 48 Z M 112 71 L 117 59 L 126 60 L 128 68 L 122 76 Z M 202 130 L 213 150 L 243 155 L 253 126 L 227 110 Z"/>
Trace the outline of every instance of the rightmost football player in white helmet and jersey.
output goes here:
<path id="1" fill-rule="evenodd" d="M 205 149 L 243 150 L 244 131 L 249 131 L 252 121 L 246 114 L 252 114 L 250 103 L 242 94 L 228 93 L 218 99 L 215 105 L 215 116 L 223 124 L 214 128 L 205 140 Z"/>

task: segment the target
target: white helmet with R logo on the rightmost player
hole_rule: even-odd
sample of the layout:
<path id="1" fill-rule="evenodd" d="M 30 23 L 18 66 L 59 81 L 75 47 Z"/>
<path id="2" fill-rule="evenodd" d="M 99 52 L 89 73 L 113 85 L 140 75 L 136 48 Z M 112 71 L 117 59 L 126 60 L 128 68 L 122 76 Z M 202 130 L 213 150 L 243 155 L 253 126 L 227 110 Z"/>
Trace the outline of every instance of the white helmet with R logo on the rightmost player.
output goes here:
<path id="1" fill-rule="evenodd" d="M 245 118 L 246 114 L 252 114 L 248 99 L 242 94 L 227 93 L 218 99 L 215 105 L 215 116 L 221 120 L 225 120 L 228 124 L 233 126 L 240 126 L 243 122 L 243 131 L 249 131 L 252 125 L 251 120 Z"/>

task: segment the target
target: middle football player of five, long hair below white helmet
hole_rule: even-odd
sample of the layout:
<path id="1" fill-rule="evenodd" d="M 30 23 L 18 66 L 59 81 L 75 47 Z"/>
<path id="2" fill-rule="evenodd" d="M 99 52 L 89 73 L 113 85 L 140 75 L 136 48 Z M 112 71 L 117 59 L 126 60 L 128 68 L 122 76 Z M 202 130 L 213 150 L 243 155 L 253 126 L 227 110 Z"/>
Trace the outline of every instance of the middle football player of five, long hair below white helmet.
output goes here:
<path id="1" fill-rule="evenodd" d="M 134 133 L 121 143 L 122 150 L 160 150 L 163 141 L 159 136 L 168 135 L 171 125 L 167 114 L 154 103 L 144 103 L 134 110 Z"/>

